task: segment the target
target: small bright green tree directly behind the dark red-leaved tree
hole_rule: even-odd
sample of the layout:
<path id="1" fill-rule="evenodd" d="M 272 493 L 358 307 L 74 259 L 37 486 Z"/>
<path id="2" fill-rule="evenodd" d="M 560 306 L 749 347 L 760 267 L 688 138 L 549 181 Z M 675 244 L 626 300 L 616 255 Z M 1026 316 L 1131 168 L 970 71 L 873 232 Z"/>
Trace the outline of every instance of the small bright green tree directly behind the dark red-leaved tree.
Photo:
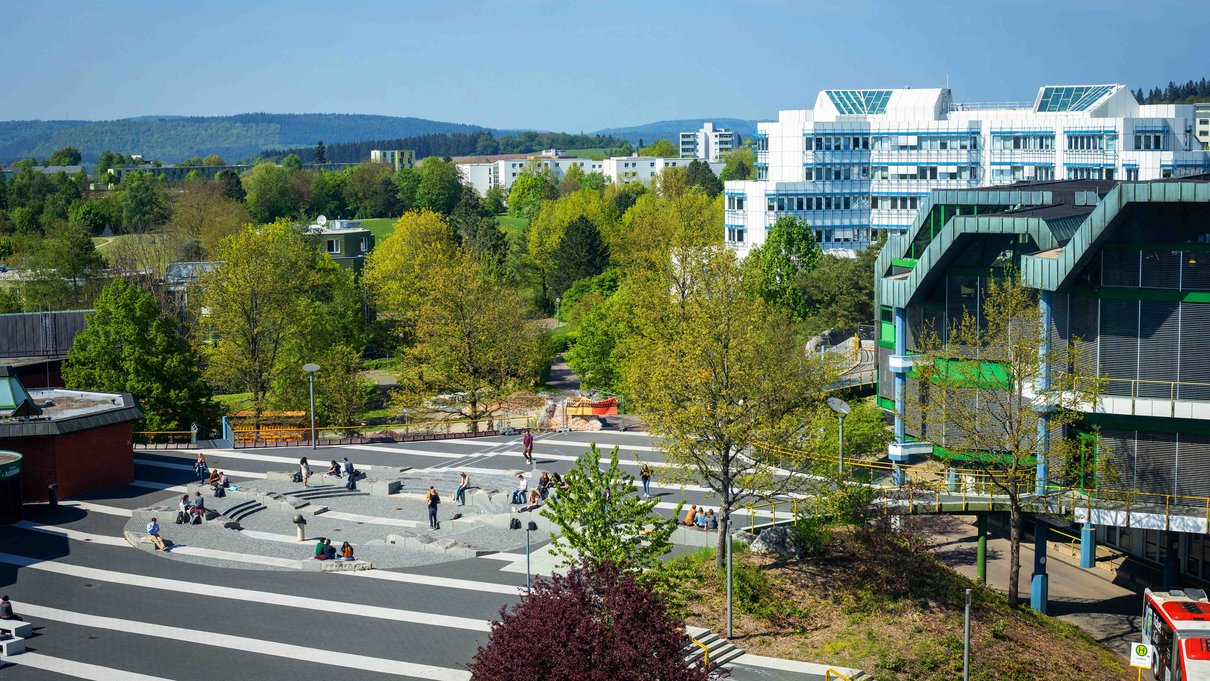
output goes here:
<path id="1" fill-rule="evenodd" d="M 655 513 L 658 500 L 639 498 L 634 477 L 618 466 L 616 446 L 601 468 L 601 452 L 592 444 L 564 480 L 569 489 L 555 490 L 542 509 L 542 516 L 559 527 L 551 552 L 564 565 L 587 559 L 643 572 L 672 550 L 680 506 L 668 519 Z"/>

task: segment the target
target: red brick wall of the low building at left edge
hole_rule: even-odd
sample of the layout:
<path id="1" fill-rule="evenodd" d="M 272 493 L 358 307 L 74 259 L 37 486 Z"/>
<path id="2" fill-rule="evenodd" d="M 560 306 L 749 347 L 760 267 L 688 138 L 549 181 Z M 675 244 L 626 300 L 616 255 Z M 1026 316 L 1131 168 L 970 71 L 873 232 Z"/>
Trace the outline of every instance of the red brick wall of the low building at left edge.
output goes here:
<path id="1" fill-rule="evenodd" d="M 65 435 L 5 438 L 0 446 L 24 456 L 21 478 L 25 503 L 46 501 L 51 483 L 58 484 L 59 498 L 67 498 L 134 480 L 131 423 Z"/>

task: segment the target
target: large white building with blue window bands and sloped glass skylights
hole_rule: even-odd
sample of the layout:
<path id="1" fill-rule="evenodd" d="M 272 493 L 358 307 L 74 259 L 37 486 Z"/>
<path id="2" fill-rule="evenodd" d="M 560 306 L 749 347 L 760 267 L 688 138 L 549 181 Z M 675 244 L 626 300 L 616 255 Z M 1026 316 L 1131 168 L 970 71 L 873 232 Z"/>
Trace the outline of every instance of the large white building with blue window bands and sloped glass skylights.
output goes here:
<path id="1" fill-rule="evenodd" d="M 1141 105 L 1122 85 L 1044 86 L 1032 105 L 955 104 L 950 91 L 825 90 L 811 110 L 759 123 L 756 180 L 726 183 L 741 254 L 782 215 L 855 254 L 906 229 L 934 189 L 1053 179 L 1150 180 L 1210 172 L 1194 106 Z"/>

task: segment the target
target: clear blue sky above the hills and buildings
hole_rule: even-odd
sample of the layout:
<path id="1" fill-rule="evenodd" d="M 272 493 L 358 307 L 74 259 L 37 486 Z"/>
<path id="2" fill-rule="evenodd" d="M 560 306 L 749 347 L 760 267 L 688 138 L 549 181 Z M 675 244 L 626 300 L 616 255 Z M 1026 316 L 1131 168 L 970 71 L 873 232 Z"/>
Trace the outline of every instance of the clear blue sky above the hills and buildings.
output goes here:
<path id="1" fill-rule="evenodd" d="M 825 87 L 1027 100 L 1210 76 L 1205 0 L 6 2 L 0 117 L 246 111 L 569 132 L 768 120 Z"/>

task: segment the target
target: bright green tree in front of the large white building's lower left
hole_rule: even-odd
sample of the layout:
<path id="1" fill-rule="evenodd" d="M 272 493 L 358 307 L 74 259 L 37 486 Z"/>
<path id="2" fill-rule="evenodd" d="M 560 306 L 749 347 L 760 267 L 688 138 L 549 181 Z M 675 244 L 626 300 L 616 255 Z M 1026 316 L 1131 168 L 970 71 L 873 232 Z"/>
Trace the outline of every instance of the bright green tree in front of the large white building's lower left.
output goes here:
<path id="1" fill-rule="evenodd" d="M 799 282 L 822 256 L 823 249 L 816 243 L 811 225 L 793 215 L 782 215 L 770 229 L 765 243 L 744 259 L 745 281 L 765 302 L 785 310 L 801 322 L 811 316 L 813 305 L 802 295 Z"/>

